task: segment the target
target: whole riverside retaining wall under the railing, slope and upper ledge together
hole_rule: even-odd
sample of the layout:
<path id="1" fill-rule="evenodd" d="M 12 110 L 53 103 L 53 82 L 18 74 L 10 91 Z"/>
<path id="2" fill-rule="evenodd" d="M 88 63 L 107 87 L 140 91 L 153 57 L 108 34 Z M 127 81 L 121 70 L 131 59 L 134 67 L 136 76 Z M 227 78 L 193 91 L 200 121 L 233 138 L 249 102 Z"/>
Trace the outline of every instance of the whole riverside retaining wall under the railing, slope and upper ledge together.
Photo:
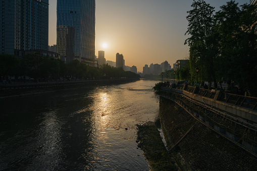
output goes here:
<path id="1" fill-rule="evenodd" d="M 160 120 L 169 151 L 182 170 L 257 168 L 254 124 L 207 105 L 211 99 L 195 100 L 176 91 L 161 92 Z"/>

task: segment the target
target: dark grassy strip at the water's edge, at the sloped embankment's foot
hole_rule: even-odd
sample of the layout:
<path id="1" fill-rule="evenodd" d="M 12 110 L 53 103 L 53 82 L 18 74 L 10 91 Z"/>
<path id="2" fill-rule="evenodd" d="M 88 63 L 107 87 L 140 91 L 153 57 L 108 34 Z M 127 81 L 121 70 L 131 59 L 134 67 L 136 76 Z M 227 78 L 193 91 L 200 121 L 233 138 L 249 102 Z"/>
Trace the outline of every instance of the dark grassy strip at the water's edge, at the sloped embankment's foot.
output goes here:
<path id="1" fill-rule="evenodd" d="M 169 156 L 157 126 L 153 122 L 137 125 L 138 147 L 142 149 L 150 170 L 177 170 Z"/>

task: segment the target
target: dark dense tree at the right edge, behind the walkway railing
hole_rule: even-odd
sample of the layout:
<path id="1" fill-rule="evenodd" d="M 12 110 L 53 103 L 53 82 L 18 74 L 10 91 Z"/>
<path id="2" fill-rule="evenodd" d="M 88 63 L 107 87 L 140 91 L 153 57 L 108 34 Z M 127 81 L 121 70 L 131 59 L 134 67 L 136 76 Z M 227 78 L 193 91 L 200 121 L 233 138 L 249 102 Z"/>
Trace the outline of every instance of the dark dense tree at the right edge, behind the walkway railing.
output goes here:
<path id="1" fill-rule="evenodd" d="M 244 4 L 240 8 L 230 1 L 216 13 L 215 21 L 219 32 L 219 77 L 253 89 L 257 83 L 256 7 Z"/>

